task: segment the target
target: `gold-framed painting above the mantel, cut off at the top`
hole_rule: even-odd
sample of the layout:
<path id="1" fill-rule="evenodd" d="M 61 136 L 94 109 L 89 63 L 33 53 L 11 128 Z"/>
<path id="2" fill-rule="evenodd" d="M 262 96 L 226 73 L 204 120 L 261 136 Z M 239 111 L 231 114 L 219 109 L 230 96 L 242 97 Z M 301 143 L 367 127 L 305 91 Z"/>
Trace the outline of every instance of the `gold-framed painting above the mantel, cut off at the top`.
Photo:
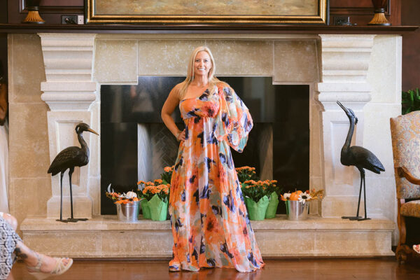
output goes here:
<path id="1" fill-rule="evenodd" d="M 87 23 L 326 25 L 328 0 L 86 0 Z"/>

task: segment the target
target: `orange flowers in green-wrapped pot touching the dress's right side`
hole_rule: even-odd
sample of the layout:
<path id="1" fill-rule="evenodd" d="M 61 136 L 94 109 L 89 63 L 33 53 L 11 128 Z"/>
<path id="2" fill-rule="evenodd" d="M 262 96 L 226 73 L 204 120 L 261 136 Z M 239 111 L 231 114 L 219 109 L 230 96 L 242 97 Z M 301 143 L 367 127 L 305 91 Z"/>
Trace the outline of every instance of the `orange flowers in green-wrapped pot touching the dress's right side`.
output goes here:
<path id="1" fill-rule="evenodd" d="M 268 190 L 263 181 L 248 180 L 242 186 L 245 205 L 250 220 L 264 220 L 268 207 Z"/>

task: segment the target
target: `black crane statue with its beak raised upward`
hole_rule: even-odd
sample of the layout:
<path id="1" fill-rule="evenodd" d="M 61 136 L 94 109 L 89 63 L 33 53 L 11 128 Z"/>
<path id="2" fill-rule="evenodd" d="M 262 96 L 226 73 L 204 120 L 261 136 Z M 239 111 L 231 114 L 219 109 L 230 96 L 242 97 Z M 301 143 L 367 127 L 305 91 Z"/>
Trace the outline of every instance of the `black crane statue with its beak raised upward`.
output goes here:
<path id="1" fill-rule="evenodd" d="M 342 148 L 341 152 L 341 158 L 340 161 L 342 165 L 346 166 L 354 166 L 358 169 L 360 172 L 360 190 L 359 190 L 359 199 L 357 204 L 357 214 L 355 217 L 342 217 L 342 218 L 348 218 L 350 220 L 357 220 L 357 221 L 363 221 L 363 220 L 369 220 L 370 218 L 367 218 L 367 212 L 366 212 L 366 182 L 365 182 L 365 169 L 370 170 L 371 172 L 374 172 L 376 174 L 380 174 L 381 171 L 384 172 L 384 165 L 381 164 L 381 162 L 378 160 L 376 155 L 374 155 L 371 151 L 360 147 L 360 146 L 350 146 L 351 137 L 353 137 L 354 132 L 354 126 L 357 124 L 358 119 L 356 118 L 356 115 L 354 114 L 353 110 L 347 109 L 344 107 L 343 104 L 337 101 L 337 104 L 344 110 L 347 117 L 349 117 L 350 120 L 350 127 L 349 127 L 349 133 L 347 133 L 346 142 L 344 143 L 344 146 Z M 360 209 L 360 196 L 362 195 L 362 183 L 363 183 L 363 195 L 365 196 L 365 218 L 362 218 L 358 216 L 359 209 Z"/>

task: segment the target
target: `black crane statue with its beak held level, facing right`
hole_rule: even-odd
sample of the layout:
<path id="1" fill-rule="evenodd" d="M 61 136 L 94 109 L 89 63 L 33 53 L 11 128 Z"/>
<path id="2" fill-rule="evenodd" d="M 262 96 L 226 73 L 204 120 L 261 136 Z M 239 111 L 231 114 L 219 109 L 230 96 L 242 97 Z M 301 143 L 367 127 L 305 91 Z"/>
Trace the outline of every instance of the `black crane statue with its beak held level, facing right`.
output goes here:
<path id="1" fill-rule="evenodd" d="M 60 173 L 61 200 L 59 208 L 59 220 L 57 220 L 60 222 L 76 223 L 77 221 L 87 220 L 86 218 L 73 217 L 73 193 L 71 190 L 71 174 L 74 172 L 74 167 L 83 167 L 89 163 L 89 148 L 87 148 L 87 144 L 82 135 L 85 131 L 97 134 L 97 132 L 92 130 L 89 125 L 85 123 L 79 123 L 76 125 L 76 134 L 81 148 L 76 146 L 65 148 L 63 151 L 59 152 L 59 154 L 52 161 L 50 168 L 48 169 L 48 173 L 51 173 L 52 176 Z M 63 176 L 67 169 L 69 169 L 71 218 L 63 220 Z"/>

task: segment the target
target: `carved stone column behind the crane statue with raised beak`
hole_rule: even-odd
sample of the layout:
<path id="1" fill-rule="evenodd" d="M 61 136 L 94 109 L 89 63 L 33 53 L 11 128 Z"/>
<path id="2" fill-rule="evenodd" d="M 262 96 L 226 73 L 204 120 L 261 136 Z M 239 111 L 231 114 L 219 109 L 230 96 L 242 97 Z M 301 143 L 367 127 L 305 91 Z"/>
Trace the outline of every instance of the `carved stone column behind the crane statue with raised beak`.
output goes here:
<path id="1" fill-rule="evenodd" d="M 315 90 L 324 109 L 320 123 L 325 186 L 323 217 L 356 215 L 360 176 L 356 168 L 344 167 L 340 162 L 349 119 L 336 102 L 339 100 L 356 113 L 358 124 L 351 145 L 363 146 L 363 107 L 371 99 L 366 78 L 374 36 L 320 35 L 322 83 L 316 84 Z"/>

